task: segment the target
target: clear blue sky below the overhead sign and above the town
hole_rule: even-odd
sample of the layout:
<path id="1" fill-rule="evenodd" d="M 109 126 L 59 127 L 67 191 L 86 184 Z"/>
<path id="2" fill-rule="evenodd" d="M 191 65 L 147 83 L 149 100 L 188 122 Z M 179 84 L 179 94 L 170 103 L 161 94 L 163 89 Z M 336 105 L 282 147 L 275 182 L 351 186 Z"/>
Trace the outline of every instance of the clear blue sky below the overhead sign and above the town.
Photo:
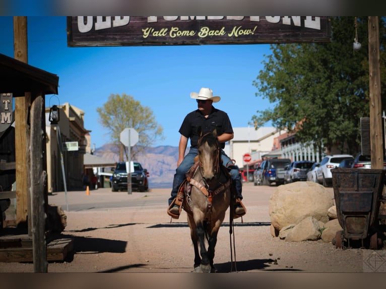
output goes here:
<path id="1" fill-rule="evenodd" d="M 66 17 L 55 16 L 28 17 L 27 34 L 28 64 L 59 77 L 60 104 L 85 111 L 96 148 L 110 142 L 96 112 L 110 94 L 131 95 L 153 111 L 165 137 L 154 147 L 178 146 L 180 124 L 197 108 L 190 92 L 201 87 L 221 97 L 214 105 L 228 113 L 233 127 L 248 126 L 256 110 L 271 106 L 252 86 L 264 54 L 271 54 L 267 44 L 68 47 Z M 14 57 L 13 17 L 0 17 L 0 37 L 0 53 Z"/>

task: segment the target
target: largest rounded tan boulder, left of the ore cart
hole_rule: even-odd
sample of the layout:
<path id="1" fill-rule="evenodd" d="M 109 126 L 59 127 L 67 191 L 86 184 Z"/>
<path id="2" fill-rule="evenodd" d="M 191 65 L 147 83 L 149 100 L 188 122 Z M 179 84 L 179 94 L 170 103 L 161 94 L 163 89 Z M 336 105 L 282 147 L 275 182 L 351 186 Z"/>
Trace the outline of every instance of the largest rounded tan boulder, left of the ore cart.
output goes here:
<path id="1" fill-rule="evenodd" d="M 277 230 L 296 225 L 312 216 L 327 223 L 327 212 L 334 205 L 334 192 L 314 182 L 295 182 L 278 186 L 269 203 L 271 224 Z"/>

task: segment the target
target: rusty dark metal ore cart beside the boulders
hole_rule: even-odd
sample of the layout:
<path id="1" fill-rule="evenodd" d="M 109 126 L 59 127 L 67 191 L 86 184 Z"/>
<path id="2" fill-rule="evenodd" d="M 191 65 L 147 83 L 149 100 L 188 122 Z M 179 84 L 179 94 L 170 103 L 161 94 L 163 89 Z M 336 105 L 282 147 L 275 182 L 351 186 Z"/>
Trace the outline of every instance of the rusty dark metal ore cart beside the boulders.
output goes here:
<path id="1" fill-rule="evenodd" d="M 343 231 L 333 240 L 336 248 L 351 247 L 360 242 L 361 247 L 377 250 L 378 212 L 386 170 L 332 169 L 334 197 L 338 221 Z M 354 241 L 354 242 L 353 242 Z"/>

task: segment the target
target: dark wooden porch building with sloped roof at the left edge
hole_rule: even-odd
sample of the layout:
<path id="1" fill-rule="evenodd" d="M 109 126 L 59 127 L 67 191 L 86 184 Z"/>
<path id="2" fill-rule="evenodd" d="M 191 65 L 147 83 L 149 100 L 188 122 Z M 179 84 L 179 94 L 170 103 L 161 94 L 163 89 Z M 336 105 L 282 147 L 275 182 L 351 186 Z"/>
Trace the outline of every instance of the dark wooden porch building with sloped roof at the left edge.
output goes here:
<path id="1" fill-rule="evenodd" d="M 26 248 L 26 252 L 33 250 L 36 272 L 47 270 L 45 96 L 58 93 L 58 81 L 58 76 L 54 74 L 0 54 L 1 129 L 6 128 L 6 131 L 7 126 L 15 122 L 14 143 L 9 136 L 7 140 L 8 146 L 14 145 L 15 161 L 12 158 L 2 160 L 0 173 L 16 176 L 16 189 L 6 185 L 8 190 L 0 191 L 0 199 L 16 198 L 16 226 L 24 228 L 26 233 L 28 231 L 26 236 L 31 246 Z M 14 103 L 15 113 L 10 114 Z M 9 133 L 12 135 L 12 132 Z M 7 239 L 5 243 L 10 242 Z M 5 254 L 9 256 L 9 252 Z"/>

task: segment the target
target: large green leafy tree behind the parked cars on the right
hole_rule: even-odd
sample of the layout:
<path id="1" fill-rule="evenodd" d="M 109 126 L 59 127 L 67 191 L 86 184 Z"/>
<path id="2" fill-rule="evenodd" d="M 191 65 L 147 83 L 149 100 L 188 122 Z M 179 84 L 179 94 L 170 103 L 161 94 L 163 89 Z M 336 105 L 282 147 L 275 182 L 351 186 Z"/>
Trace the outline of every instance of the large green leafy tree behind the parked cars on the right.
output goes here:
<path id="1" fill-rule="evenodd" d="M 353 50 L 354 17 L 331 18 L 328 43 L 274 44 L 253 81 L 257 97 L 273 108 L 252 116 L 255 128 L 272 122 L 302 142 L 313 142 L 319 154 L 333 146 L 354 154 L 360 146 L 360 118 L 369 116 L 367 17 L 358 17 L 360 50 Z M 386 64 L 384 20 L 379 20 L 381 75 Z M 385 78 L 381 79 L 385 96 Z M 384 99 L 386 100 L 386 99 Z M 385 101 L 382 102 L 386 104 Z"/>

